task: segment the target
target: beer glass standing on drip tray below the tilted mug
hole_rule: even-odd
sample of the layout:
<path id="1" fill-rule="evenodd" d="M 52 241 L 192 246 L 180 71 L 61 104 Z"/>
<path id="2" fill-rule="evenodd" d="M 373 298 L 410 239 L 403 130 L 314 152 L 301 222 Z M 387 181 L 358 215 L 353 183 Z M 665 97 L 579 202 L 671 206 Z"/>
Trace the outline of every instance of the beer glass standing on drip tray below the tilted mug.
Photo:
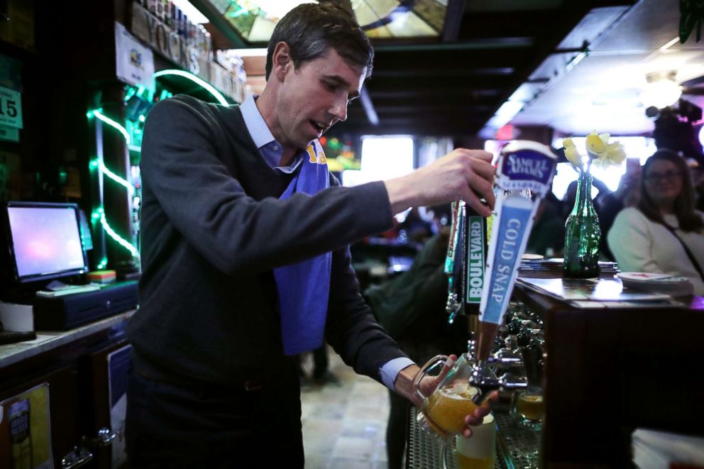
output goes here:
<path id="1" fill-rule="evenodd" d="M 493 469 L 496 455 L 496 422 L 494 416 L 488 414 L 481 425 L 472 425 L 472 436 L 455 437 L 455 450 L 448 451 L 448 445 L 443 445 L 440 451 L 441 468 L 449 469 L 449 458 L 455 457 L 458 469 Z"/>

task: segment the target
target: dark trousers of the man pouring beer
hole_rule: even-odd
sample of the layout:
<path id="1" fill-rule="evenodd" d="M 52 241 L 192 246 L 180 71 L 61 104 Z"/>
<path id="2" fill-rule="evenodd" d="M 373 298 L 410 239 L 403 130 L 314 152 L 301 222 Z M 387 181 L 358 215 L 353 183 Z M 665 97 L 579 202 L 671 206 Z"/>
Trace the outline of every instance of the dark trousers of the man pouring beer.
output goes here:
<path id="1" fill-rule="evenodd" d="M 125 434 L 135 468 L 303 468 L 295 367 L 251 391 L 176 386 L 132 369 Z"/>

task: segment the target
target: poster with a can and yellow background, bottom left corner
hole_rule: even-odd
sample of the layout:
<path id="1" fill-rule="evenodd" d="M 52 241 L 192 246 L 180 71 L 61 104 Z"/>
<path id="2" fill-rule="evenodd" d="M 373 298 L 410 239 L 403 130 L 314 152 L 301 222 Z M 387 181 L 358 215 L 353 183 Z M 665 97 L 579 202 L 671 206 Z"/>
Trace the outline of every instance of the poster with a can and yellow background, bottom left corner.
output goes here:
<path id="1" fill-rule="evenodd" d="M 53 469 L 49 385 L 0 402 L 0 468 Z"/>

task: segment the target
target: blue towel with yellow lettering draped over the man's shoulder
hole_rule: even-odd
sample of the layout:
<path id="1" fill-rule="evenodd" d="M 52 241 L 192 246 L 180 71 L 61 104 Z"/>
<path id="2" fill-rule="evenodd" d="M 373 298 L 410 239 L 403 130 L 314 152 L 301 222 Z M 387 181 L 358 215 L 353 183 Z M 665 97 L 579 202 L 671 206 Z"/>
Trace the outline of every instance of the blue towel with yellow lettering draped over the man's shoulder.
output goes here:
<path id="1" fill-rule="evenodd" d="M 293 194 L 317 194 L 330 187 L 328 166 L 320 143 L 307 148 L 298 174 L 279 199 Z M 279 293 L 281 336 L 286 355 L 296 355 L 323 344 L 330 294 L 332 253 L 274 269 Z"/>

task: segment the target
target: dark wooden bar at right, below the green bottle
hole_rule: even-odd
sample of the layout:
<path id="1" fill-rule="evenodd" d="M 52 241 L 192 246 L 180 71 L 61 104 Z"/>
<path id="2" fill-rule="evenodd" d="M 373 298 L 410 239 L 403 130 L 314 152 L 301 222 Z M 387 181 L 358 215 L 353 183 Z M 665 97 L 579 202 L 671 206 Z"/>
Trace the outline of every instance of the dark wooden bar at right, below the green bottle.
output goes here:
<path id="1" fill-rule="evenodd" d="M 512 301 L 544 321 L 545 414 L 525 445 L 497 409 L 495 467 L 629 467 L 637 428 L 704 436 L 704 298 L 678 300 L 685 307 L 582 309 L 517 282 Z M 408 443 L 407 467 L 442 467 L 415 411 Z"/>

